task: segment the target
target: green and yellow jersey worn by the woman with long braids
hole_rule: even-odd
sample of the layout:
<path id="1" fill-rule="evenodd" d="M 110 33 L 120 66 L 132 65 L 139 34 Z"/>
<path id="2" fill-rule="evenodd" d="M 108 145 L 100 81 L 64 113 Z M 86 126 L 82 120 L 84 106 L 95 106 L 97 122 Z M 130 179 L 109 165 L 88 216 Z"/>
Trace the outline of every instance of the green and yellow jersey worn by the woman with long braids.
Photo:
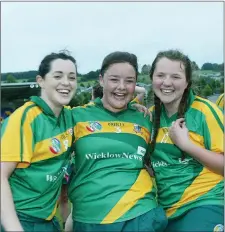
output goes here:
<path id="1" fill-rule="evenodd" d="M 191 155 L 183 154 L 171 141 L 168 128 L 176 118 L 177 114 L 168 118 L 162 109 L 156 147 L 151 155 L 158 201 L 169 218 L 178 217 L 197 206 L 224 204 L 223 177 Z M 191 92 L 185 121 L 193 143 L 223 153 L 223 114 L 215 104 Z"/>

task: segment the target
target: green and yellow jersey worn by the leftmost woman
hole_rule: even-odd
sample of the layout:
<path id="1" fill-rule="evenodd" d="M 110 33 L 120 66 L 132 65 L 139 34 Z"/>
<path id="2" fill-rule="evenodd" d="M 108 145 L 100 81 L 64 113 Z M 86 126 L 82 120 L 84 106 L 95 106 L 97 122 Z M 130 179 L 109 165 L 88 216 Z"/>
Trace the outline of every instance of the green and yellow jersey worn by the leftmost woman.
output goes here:
<path id="1" fill-rule="evenodd" d="M 51 220 L 72 144 L 71 110 L 56 118 L 39 97 L 18 108 L 1 129 L 1 161 L 18 162 L 9 183 L 16 211 Z"/>

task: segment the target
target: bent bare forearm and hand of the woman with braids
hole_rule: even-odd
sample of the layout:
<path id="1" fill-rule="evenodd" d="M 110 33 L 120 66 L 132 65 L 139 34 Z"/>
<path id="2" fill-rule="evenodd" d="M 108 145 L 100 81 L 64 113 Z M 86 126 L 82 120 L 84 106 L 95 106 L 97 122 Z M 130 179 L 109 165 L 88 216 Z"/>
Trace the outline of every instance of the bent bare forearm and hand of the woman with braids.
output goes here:
<path id="1" fill-rule="evenodd" d="M 191 142 L 184 119 L 177 119 L 169 130 L 170 138 L 184 152 L 190 154 L 211 171 L 224 176 L 224 155 L 199 147 Z"/>

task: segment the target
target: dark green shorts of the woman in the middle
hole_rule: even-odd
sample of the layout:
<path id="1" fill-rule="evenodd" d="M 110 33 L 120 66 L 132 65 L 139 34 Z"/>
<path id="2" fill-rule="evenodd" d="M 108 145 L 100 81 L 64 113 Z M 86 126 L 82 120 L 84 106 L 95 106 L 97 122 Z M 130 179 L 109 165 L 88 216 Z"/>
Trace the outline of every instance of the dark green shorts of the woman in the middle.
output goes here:
<path id="1" fill-rule="evenodd" d="M 90 224 L 73 221 L 74 232 L 163 232 L 167 217 L 162 207 L 124 222 L 112 224 Z"/>

